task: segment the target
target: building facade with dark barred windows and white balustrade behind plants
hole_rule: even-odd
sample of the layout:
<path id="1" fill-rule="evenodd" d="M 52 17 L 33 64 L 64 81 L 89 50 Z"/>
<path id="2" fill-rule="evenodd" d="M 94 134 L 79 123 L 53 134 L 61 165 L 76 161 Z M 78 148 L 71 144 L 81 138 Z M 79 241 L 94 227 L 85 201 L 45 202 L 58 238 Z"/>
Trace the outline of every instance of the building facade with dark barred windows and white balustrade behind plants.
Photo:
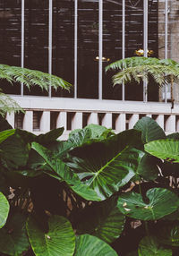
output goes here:
<path id="1" fill-rule="evenodd" d="M 178 60 L 177 0 L 5 0 L 0 2 L 2 64 L 53 73 L 73 84 L 43 92 L 1 82 L 25 115 L 7 115 L 15 127 L 64 134 L 86 124 L 104 124 L 120 132 L 144 115 L 166 132 L 179 129 L 178 86 L 171 106 L 171 85 L 154 81 L 112 85 L 105 66 L 133 55 Z M 172 107 L 172 108 L 171 108 Z"/>

